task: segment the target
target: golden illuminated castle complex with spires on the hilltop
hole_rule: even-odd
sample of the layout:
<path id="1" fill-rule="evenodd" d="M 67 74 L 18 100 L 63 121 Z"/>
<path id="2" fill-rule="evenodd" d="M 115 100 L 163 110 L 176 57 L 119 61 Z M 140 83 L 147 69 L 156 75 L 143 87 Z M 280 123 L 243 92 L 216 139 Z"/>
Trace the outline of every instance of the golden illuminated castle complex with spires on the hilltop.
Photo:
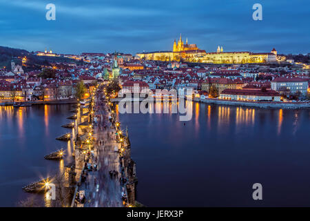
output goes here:
<path id="1" fill-rule="evenodd" d="M 184 44 L 182 37 L 176 43 L 172 51 L 156 51 L 138 53 L 141 59 L 155 61 L 188 61 L 211 64 L 245 64 L 245 63 L 265 63 L 278 61 L 277 51 L 273 48 L 271 52 L 224 52 L 223 46 L 218 46 L 216 52 L 205 52 L 200 50 L 196 44 Z"/>

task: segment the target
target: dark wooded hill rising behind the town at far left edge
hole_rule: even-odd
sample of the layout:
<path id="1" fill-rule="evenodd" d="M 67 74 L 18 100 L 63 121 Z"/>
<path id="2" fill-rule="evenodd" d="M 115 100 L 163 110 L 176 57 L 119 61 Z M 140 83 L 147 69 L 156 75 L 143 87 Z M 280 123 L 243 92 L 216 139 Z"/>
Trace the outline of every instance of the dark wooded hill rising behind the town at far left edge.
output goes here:
<path id="1" fill-rule="evenodd" d="M 6 67 L 7 70 L 11 69 L 11 61 L 13 60 L 15 64 L 21 65 L 21 59 L 27 57 L 27 62 L 23 69 L 26 71 L 41 69 L 41 66 L 52 66 L 55 63 L 79 63 L 81 61 L 76 61 L 74 59 L 68 59 L 66 57 L 48 57 L 48 56 L 37 56 L 33 52 L 28 52 L 28 50 L 9 48 L 5 46 L 0 46 L 0 67 Z"/>

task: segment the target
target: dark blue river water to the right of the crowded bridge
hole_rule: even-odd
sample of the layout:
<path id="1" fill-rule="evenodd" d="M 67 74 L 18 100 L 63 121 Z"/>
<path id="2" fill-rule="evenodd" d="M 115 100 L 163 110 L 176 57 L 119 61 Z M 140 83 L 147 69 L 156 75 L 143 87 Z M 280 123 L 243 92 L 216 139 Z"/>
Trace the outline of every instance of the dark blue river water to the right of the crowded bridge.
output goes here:
<path id="1" fill-rule="evenodd" d="M 119 115 L 146 206 L 310 206 L 310 111 L 192 104 Z M 262 200 L 252 185 L 262 184 Z"/>

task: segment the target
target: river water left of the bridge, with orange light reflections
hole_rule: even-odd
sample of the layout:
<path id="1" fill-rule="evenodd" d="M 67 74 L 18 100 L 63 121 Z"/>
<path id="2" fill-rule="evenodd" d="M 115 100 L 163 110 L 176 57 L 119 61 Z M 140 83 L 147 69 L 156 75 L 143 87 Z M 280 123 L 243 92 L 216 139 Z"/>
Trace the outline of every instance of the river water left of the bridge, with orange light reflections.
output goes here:
<path id="1" fill-rule="evenodd" d="M 57 173 L 72 159 L 72 142 L 55 137 L 74 129 L 61 125 L 71 105 L 45 105 L 23 108 L 0 107 L 0 206 L 19 206 L 20 200 L 35 196 L 44 206 L 44 195 L 23 193 L 26 184 Z M 65 159 L 45 160 L 44 155 L 63 147 Z"/>

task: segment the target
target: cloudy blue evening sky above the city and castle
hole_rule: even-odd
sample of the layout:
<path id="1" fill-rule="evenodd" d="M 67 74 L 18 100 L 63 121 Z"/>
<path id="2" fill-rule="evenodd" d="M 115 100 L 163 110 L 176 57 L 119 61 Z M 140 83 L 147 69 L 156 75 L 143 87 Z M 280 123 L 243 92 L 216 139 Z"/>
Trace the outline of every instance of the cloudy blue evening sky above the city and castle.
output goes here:
<path id="1" fill-rule="evenodd" d="M 56 21 L 45 6 L 56 5 Z M 262 4 L 262 21 L 252 6 Z M 309 0 L 0 0 L 0 46 L 58 53 L 172 50 L 310 52 Z"/>

